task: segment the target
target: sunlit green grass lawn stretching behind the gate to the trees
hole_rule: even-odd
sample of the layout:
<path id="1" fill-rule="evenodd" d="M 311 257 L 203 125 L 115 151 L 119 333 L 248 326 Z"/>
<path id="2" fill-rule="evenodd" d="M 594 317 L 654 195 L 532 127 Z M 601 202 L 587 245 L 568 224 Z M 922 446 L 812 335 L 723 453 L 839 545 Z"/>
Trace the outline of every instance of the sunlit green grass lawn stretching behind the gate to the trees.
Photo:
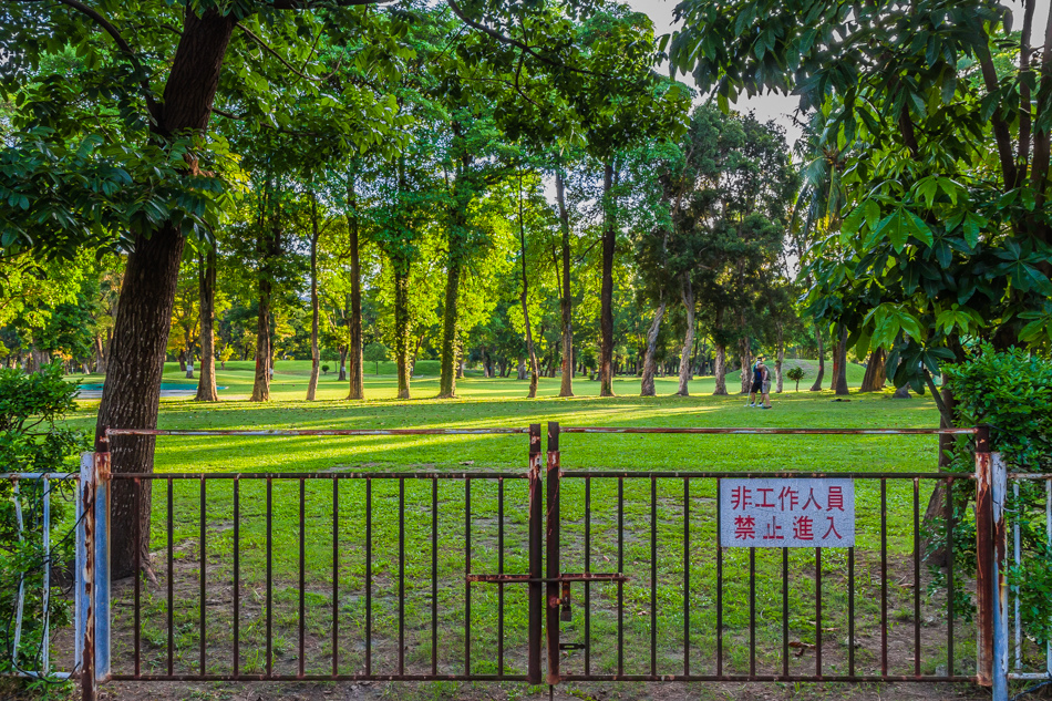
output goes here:
<path id="1" fill-rule="evenodd" d="M 806 362 L 806 361 L 802 361 Z M 330 363 L 336 364 L 336 363 Z M 638 379 L 618 378 L 619 396 L 600 399 L 598 382 L 580 378 L 577 396 L 558 399 L 559 380 L 542 379 L 539 398 L 525 399 L 527 383 L 470 375 L 457 382 L 456 400 L 432 399 L 437 378 L 424 374 L 413 380 L 413 394 L 421 399 L 398 401 L 391 374 L 365 375 L 365 401 L 348 402 L 345 383 L 334 373 L 321 379 L 319 400 L 306 402 L 307 362 L 279 362 L 271 388 L 274 401 L 265 404 L 244 399 L 250 392 L 251 363 L 227 363 L 217 373 L 218 404 L 198 404 L 186 399 L 162 400 L 158 427 L 163 429 L 393 429 L 393 427 L 505 427 L 558 421 L 564 426 L 794 426 L 794 427 L 932 427 L 938 413 L 930 398 L 894 400 L 890 392 L 858 394 L 849 402 L 833 401 L 832 392 L 774 395 L 774 409 L 744 406 L 739 394 L 712 396 L 712 379 L 695 379 L 692 395 L 673 396 L 675 378 L 657 380 L 658 396 L 638 396 Z M 389 370 L 381 364 L 381 371 Z M 429 367 L 420 368 L 423 372 Z M 809 373 L 811 374 L 811 373 Z M 857 388 L 863 369 L 849 368 L 849 383 Z M 178 381 L 174 364 L 166 382 Z M 811 374 L 813 377 L 813 374 Z M 736 375 L 729 378 L 730 385 Z M 190 381 L 192 382 L 192 381 Z M 802 384 L 809 386 L 812 379 Z M 85 400 L 71 424 L 90 427 L 97 401 Z M 565 471 L 616 468 L 626 473 L 654 470 L 680 471 L 881 471 L 888 473 L 935 471 L 937 441 L 931 436 L 762 436 L 762 435 L 597 435 L 561 437 Z M 504 669 L 522 673 L 525 667 L 526 597 L 524 585 L 504 587 L 505 616 L 498 619 L 502 592 L 496 585 L 468 587 L 464 575 L 525 573 L 527 491 L 516 475 L 527 466 L 524 435 L 478 436 L 364 436 L 364 437 L 257 437 L 166 436 L 157 441 L 158 473 L 212 472 L 426 472 L 452 475 L 460 471 L 508 475 L 503 481 L 453 478 L 276 480 L 270 489 L 271 516 L 267 518 L 267 483 L 241 480 L 239 512 L 235 519 L 234 482 L 207 483 L 205 494 L 207 661 L 205 669 L 229 673 L 233 664 L 234 524 L 237 522 L 240 616 L 238 660 L 245 673 L 266 669 L 265 630 L 270 611 L 275 630 L 275 671 L 297 670 L 300 626 L 300 548 L 305 553 L 303 663 L 308 673 L 328 673 L 331 668 L 332 581 L 339 583 L 336 599 L 341 673 L 365 671 L 367 627 L 371 636 L 373 673 L 396 673 L 401 664 L 410 673 L 427 672 L 434 653 L 440 672 L 462 673 L 471 649 L 471 669 L 496 673 L 497 650 L 505 645 Z M 367 484 L 368 483 L 368 484 Z M 200 619 L 200 499 L 202 482 L 173 481 L 171 515 L 174 537 L 173 587 L 176 592 L 172 630 L 176 673 L 198 671 Z M 932 484 L 917 487 L 920 514 Z M 589 491 L 588 499 L 585 489 Z M 777 673 L 782 664 L 782 597 L 788 592 L 790 638 L 803 654 L 793 654 L 794 673 L 815 668 L 816 642 L 814 550 L 788 555 L 788 579 L 782 578 L 781 550 L 756 553 L 755 576 L 750 575 L 747 549 L 729 549 L 723 556 L 723 586 L 716 586 L 715 481 L 692 480 L 689 497 L 683 480 L 653 483 L 642 474 L 623 481 L 566 478 L 563 484 L 563 571 L 623 571 L 629 581 L 620 591 L 623 637 L 618 640 L 618 585 L 574 585 L 574 618 L 563 623 L 561 639 L 590 646 L 594 673 L 615 673 L 618 657 L 629 674 L 682 673 L 684 657 L 693 673 L 713 673 L 718 645 L 718 590 L 722 600 L 723 669 L 747 673 L 750 668 L 750 616 L 756 618 L 755 654 L 759 673 Z M 167 482 L 153 487 L 153 530 L 149 534 L 152 567 L 158 586 L 144 583 L 144 671 L 163 672 L 166 664 L 167 616 Z M 369 491 L 367 497 L 367 489 Z M 471 491 L 471 507 L 466 508 Z M 623 491 L 623 530 L 618 528 L 618 491 Z M 652 489 L 652 491 L 651 491 Z M 915 581 L 915 487 L 911 480 L 889 480 L 887 489 L 888 636 L 893 674 L 912 673 L 916 630 L 921 632 L 921 667 L 935 673 L 946 664 L 946 610 L 942 597 L 929 598 L 927 568 Z M 300 494 L 305 507 L 300 511 Z M 849 620 L 849 587 L 846 571 L 849 553 L 828 549 L 822 556 L 823 671 L 847 673 L 848 630 L 855 628 L 856 673 L 879 673 L 880 661 L 880 485 L 856 484 L 857 544 L 854 557 L 855 617 Z M 503 495 L 503 496 L 502 496 Z M 371 505 L 367 520 L 365 502 Z M 432 511 L 433 499 L 437 512 Z M 503 511 L 498 508 L 502 503 Z M 684 507 L 689 506 L 690 538 L 684 539 Z M 333 511 L 339 509 L 333 529 Z M 587 513 L 586 513 L 587 512 Z M 433 518 L 437 517 L 437 530 Z M 303 529 L 300 529 L 300 523 Z M 585 548 L 586 520 L 590 527 Z M 468 526 L 470 525 L 470 526 Z M 468 529 L 470 528 L 470 529 Z M 365 542 L 370 542 L 370 567 Z M 270 547 L 268 549 L 268 533 Z M 502 535 L 503 534 L 503 535 Z M 402 547 L 400 548 L 400 535 Z M 337 538 L 333 547 L 333 538 Z M 467 538 L 471 545 L 467 545 Z M 498 547 L 503 537 L 504 548 Z M 620 545 L 620 547 L 619 547 Z M 338 559 L 333 559 L 333 549 Z M 651 550 L 657 559 L 651 558 Z M 269 554 L 269 555 L 268 555 Z M 268 557 L 274 584 L 266 586 Z M 587 558 L 587 561 L 586 561 Z M 434 571 L 433 571 L 434 568 Z M 689 571 L 688 571 L 689 568 Z M 367 587 L 368 576 L 368 587 Z M 651 586 L 653 583 L 653 586 Z M 965 586 L 959 583 L 959 586 Z M 434 590 L 432 589 L 434 587 Z M 367 595 L 368 589 L 368 595 Z M 404 596 L 401 592 L 404 591 Z M 914 615 L 914 592 L 920 592 L 921 617 Z M 750 609 L 750 592 L 755 605 Z M 115 671 L 128 671 L 131 637 L 131 587 L 118 586 L 121 602 L 115 628 Z M 269 599 L 268 599 L 269 596 Z M 367 607 L 367 596 L 369 606 Z M 585 598 L 590 599 L 590 620 L 585 621 Z M 468 617 L 466 601 L 470 597 Z M 268 604 L 269 600 L 269 604 Z M 403 601 L 400 610 L 400 600 Z M 432 604 L 436 617 L 432 618 Z M 371 618 L 367 611 L 371 610 Z M 401 623 L 400 623 L 401 614 Z M 465 626 L 465 619 L 468 625 Z M 688 630 L 689 652 L 684 642 Z M 432 645 L 432 626 L 439 645 Z M 652 626 L 657 626 L 654 660 L 651 662 Z M 401 630 L 401 632 L 400 632 Z M 971 627 L 957 621 L 955 664 L 957 673 L 970 673 L 973 662 Z M 401 640 L 401 643 L 400 643 Z M 792 652 L 791 652 L 792 654 Z M 580 650 L 564 653 L 564 671 L 584 670 Z M 437 687 L 435 688 L 437 689 Z M 457 687 L 453 687 L 453 695 Z M 440 690 L 441 691 L 441 690 Z M 441 695 L 435 691 L 436 695 Z"/>

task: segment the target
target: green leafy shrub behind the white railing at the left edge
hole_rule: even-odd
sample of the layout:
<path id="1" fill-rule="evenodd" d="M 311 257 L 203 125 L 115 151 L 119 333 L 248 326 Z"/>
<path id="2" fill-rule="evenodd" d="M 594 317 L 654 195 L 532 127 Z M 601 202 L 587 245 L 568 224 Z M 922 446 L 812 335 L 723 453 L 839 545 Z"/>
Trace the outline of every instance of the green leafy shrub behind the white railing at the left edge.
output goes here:
<path id="1" fill-rule="evenodd" d="M 76 385 L 62 379 L 58 363 L 45 365 L 39 373 L 23 374 L 18 370 L 0 370 L 0 455 L 4 471 L 11 472 L 70 472 L 75 470 L 75 456 L 86 447 L 86 436 L 56 426 L 65 414 L 75 410 L 73 398 Z M 52 567 L 72 560 L 72 483 L 51 481 L 51 550 L 43 548 L 43 483 L 22 480 L 18 494 L 11 481 L 0 481 L 0 620 L 14 617 L 14 594 L 22 581 L 24 587 L 23 628 L 18 661 L 7 652 L 13 642 L 8 639 L 6 653 L 0 658 L 0 672 L 11 671 L 14 664 L 22 669 L 40 667 L 41 645 L 48 631 L 43 629 L 42 589 L 43 563 L 50 558 Z M 21 522 L 21 524 L 20 524 Z M 70 601 L 52 596 L 50 625 L 70 622 Z M 3 628 L 4 635 L 13 629 Z"/>

